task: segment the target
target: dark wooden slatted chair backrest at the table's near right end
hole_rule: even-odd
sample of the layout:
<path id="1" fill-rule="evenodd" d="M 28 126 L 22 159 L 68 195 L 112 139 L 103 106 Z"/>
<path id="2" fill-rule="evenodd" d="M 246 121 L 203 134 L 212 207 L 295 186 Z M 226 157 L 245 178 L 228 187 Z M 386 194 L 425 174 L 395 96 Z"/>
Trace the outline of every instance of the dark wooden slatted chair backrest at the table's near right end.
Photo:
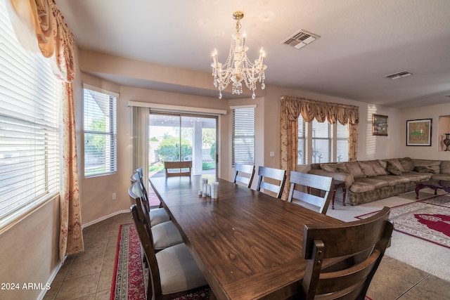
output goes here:
<path id="1" fill-rule="evenodd" d="M 392 234 L 389 207 L 364 220 L 342 226 L 304 226 L 303 256 L 307 268 L 302 299 L 364 299 Z M 349 256 L 344 263 L 323 270 L 323 259 Z"/>

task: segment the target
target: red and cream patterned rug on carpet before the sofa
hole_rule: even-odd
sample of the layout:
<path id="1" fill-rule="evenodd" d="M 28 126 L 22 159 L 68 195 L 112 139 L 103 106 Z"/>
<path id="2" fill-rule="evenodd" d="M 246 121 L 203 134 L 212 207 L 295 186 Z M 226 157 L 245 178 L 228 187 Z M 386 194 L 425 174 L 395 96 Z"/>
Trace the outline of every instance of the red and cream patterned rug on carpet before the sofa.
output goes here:
<path id="1" fill-rule="evenodd" d="M 366 219 L 377 212 L 356 218 Z M 450 195 L 392 207 L 389 219 L 394 230 L 450 248 Z"/>

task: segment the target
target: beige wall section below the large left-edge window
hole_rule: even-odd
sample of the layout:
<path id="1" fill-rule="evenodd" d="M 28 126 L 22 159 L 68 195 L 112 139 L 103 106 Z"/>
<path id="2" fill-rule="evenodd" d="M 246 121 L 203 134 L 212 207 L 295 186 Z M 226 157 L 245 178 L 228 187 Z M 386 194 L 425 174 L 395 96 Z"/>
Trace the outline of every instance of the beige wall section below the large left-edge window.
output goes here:
<path id="1" fill-rule="evenodd" d="M 32 211 L 0 234 L 0 282 L 18 283 L 18 290 L 0 290 L 0 299 L 39 299 L 58 272 L 59 197 Z M 24 284 L 44 289 L 23 289 Z"/>

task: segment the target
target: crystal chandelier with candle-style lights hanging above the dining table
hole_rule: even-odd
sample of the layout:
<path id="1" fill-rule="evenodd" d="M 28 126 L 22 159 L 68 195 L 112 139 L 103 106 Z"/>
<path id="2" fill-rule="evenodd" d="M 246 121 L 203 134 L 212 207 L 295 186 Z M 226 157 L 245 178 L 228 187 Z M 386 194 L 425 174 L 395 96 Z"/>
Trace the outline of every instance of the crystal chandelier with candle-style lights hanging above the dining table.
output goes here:
<path id="1" fill-rule="evenodd" d="M 259 58 L 255 63 L 250 63 L 247 58 L 248 47 L 245 46 L 245 33 L 240 30 L 240 20 L 244 18 L 242 11 L 235 11 L 233 19 L 236 22 L 236 33 L 231 35 L 231 47 L 225 65 L 217 61 L 217 49 L 212 52 L 212 76 L 214 76 L 214 86 L 219 89 L 219 99 L 222 98 L 222 91 L 226 89 L 230 81 L 233 81 L 233 92 L 242 93 L 242 81 L 253 92 L 252 98 L 255 99 L 255 89 L 257 81 L 261 82 L 261 89 L 264 89 L 264 79 L 266 65 L 264 65 L 264 57 L 266 53 L 263 48 L 259 50 Z"/>

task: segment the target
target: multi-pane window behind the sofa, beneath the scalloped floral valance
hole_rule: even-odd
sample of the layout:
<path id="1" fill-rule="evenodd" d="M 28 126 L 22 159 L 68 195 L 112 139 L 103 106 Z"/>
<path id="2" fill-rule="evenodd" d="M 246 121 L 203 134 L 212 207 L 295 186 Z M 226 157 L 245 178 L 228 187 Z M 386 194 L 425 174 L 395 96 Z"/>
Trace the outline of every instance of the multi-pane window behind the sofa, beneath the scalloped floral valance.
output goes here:
<path id="1" fill-rule="evenodd" d="M 309 151 L 311 155 L 309 155 Z M 298 119 L 298 164 L 348 161 L 348 125 Z"/>

